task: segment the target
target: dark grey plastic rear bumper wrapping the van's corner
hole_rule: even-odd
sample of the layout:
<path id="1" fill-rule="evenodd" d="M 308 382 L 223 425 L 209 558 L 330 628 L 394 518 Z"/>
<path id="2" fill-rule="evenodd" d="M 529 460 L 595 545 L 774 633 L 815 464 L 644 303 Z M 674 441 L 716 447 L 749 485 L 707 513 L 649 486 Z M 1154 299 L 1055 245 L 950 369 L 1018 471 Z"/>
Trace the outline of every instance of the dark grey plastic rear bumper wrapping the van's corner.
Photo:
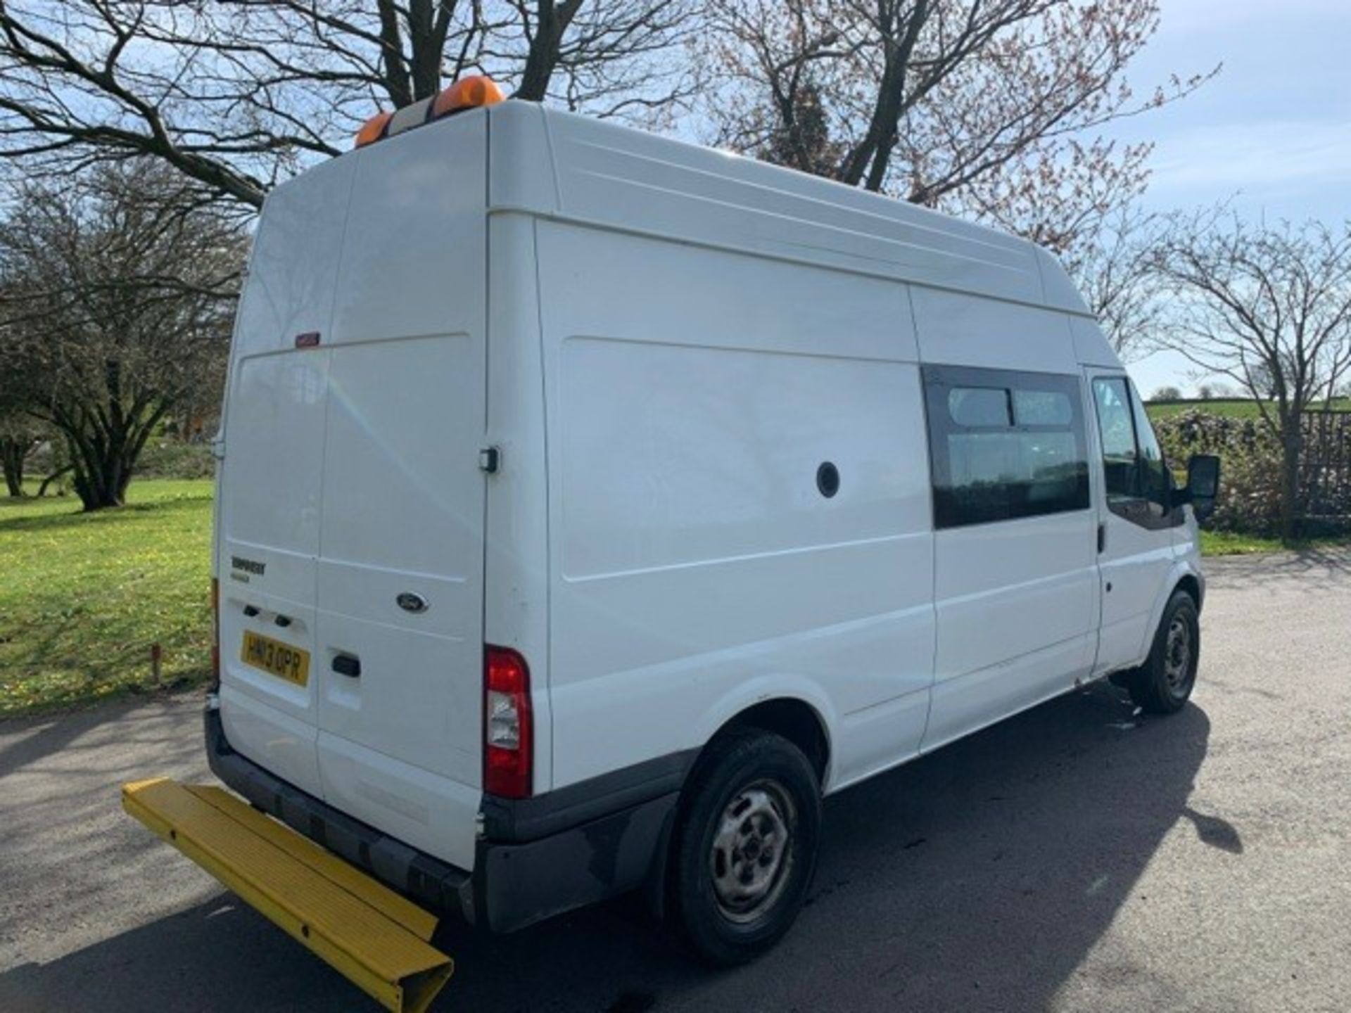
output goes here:
<path id="1" fill-rule="evenodd" d="M 485 797 L 485 832 L 470 873 L 351 819 L 235 752 L 215 708 L 205 712 L 205 735 L 212 773 L 255 808 L 394 890 L 490 932 L 524 928 L 643 885 L 665 851 L 693 759 L 663 758 L 598 786 L 524 802 Z"/>

